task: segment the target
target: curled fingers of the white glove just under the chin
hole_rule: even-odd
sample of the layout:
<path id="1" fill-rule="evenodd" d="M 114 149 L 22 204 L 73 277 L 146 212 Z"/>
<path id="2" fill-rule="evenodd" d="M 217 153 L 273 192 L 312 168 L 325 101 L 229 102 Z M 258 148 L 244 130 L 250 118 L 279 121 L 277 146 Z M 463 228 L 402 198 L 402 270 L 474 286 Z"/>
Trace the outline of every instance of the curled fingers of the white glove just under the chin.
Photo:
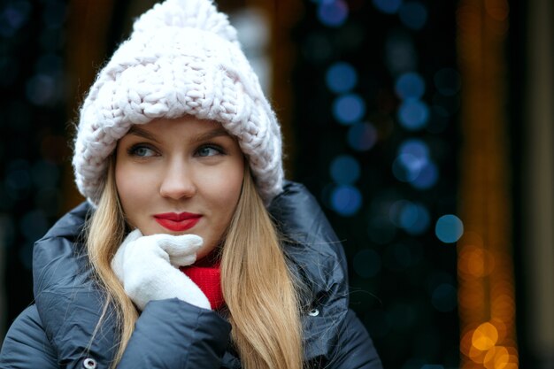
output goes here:
<path id="1" fill-rule="evenodd" d="M 202 237 L 196 234 L 157 234 L 157 242 L 169 255 L 174 266 L 191 265 L 196 261 L 196 252 L 202 247 Z"/>

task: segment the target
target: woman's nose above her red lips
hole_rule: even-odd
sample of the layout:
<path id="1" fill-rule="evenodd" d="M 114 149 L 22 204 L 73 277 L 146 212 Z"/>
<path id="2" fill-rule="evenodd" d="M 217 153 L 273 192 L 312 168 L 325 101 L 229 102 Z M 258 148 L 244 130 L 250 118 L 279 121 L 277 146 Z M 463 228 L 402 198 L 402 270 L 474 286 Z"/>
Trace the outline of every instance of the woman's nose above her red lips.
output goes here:
<path id="1" fill-rule="evenodd" d="M 167 165 L 159 193 L 161 196 L 180 200 L 196 194 L 194 171 L 184 160 L 173 160 Z"/>

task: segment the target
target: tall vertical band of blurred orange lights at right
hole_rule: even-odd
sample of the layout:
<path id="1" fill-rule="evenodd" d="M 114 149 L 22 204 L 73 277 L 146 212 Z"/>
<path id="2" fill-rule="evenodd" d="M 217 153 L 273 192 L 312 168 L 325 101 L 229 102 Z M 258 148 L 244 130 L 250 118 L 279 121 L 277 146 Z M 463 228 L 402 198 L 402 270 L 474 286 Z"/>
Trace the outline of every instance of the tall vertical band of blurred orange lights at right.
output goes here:
<path id="1" fill-rule="evenodd" d="M 458 313 L 462 369 L 519 367 L 504 104 L 506 0 L 458 4 L 462 88 Z"/>

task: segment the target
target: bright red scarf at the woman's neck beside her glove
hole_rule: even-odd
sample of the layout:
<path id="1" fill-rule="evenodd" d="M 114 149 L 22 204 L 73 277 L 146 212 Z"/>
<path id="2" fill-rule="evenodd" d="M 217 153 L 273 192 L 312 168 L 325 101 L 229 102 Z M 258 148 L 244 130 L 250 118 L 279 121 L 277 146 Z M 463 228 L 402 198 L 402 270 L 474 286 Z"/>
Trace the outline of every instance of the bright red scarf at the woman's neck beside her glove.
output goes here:
<path id="1" fill-rule="evenodd" d="M 194 265 L 181 266 L 182 273 L 185 273 L 189 278 L 196 283 L 196 285 L 204 292 L 204 295 L 208 297 L 213 310 L 218 310 L 225 304 L 223 299 L 223 292 L 221 291 L 221 273 L 219 269 L 219 261 L 216 263 L 210 263 L 203 260 L 198 260 Z"/>

